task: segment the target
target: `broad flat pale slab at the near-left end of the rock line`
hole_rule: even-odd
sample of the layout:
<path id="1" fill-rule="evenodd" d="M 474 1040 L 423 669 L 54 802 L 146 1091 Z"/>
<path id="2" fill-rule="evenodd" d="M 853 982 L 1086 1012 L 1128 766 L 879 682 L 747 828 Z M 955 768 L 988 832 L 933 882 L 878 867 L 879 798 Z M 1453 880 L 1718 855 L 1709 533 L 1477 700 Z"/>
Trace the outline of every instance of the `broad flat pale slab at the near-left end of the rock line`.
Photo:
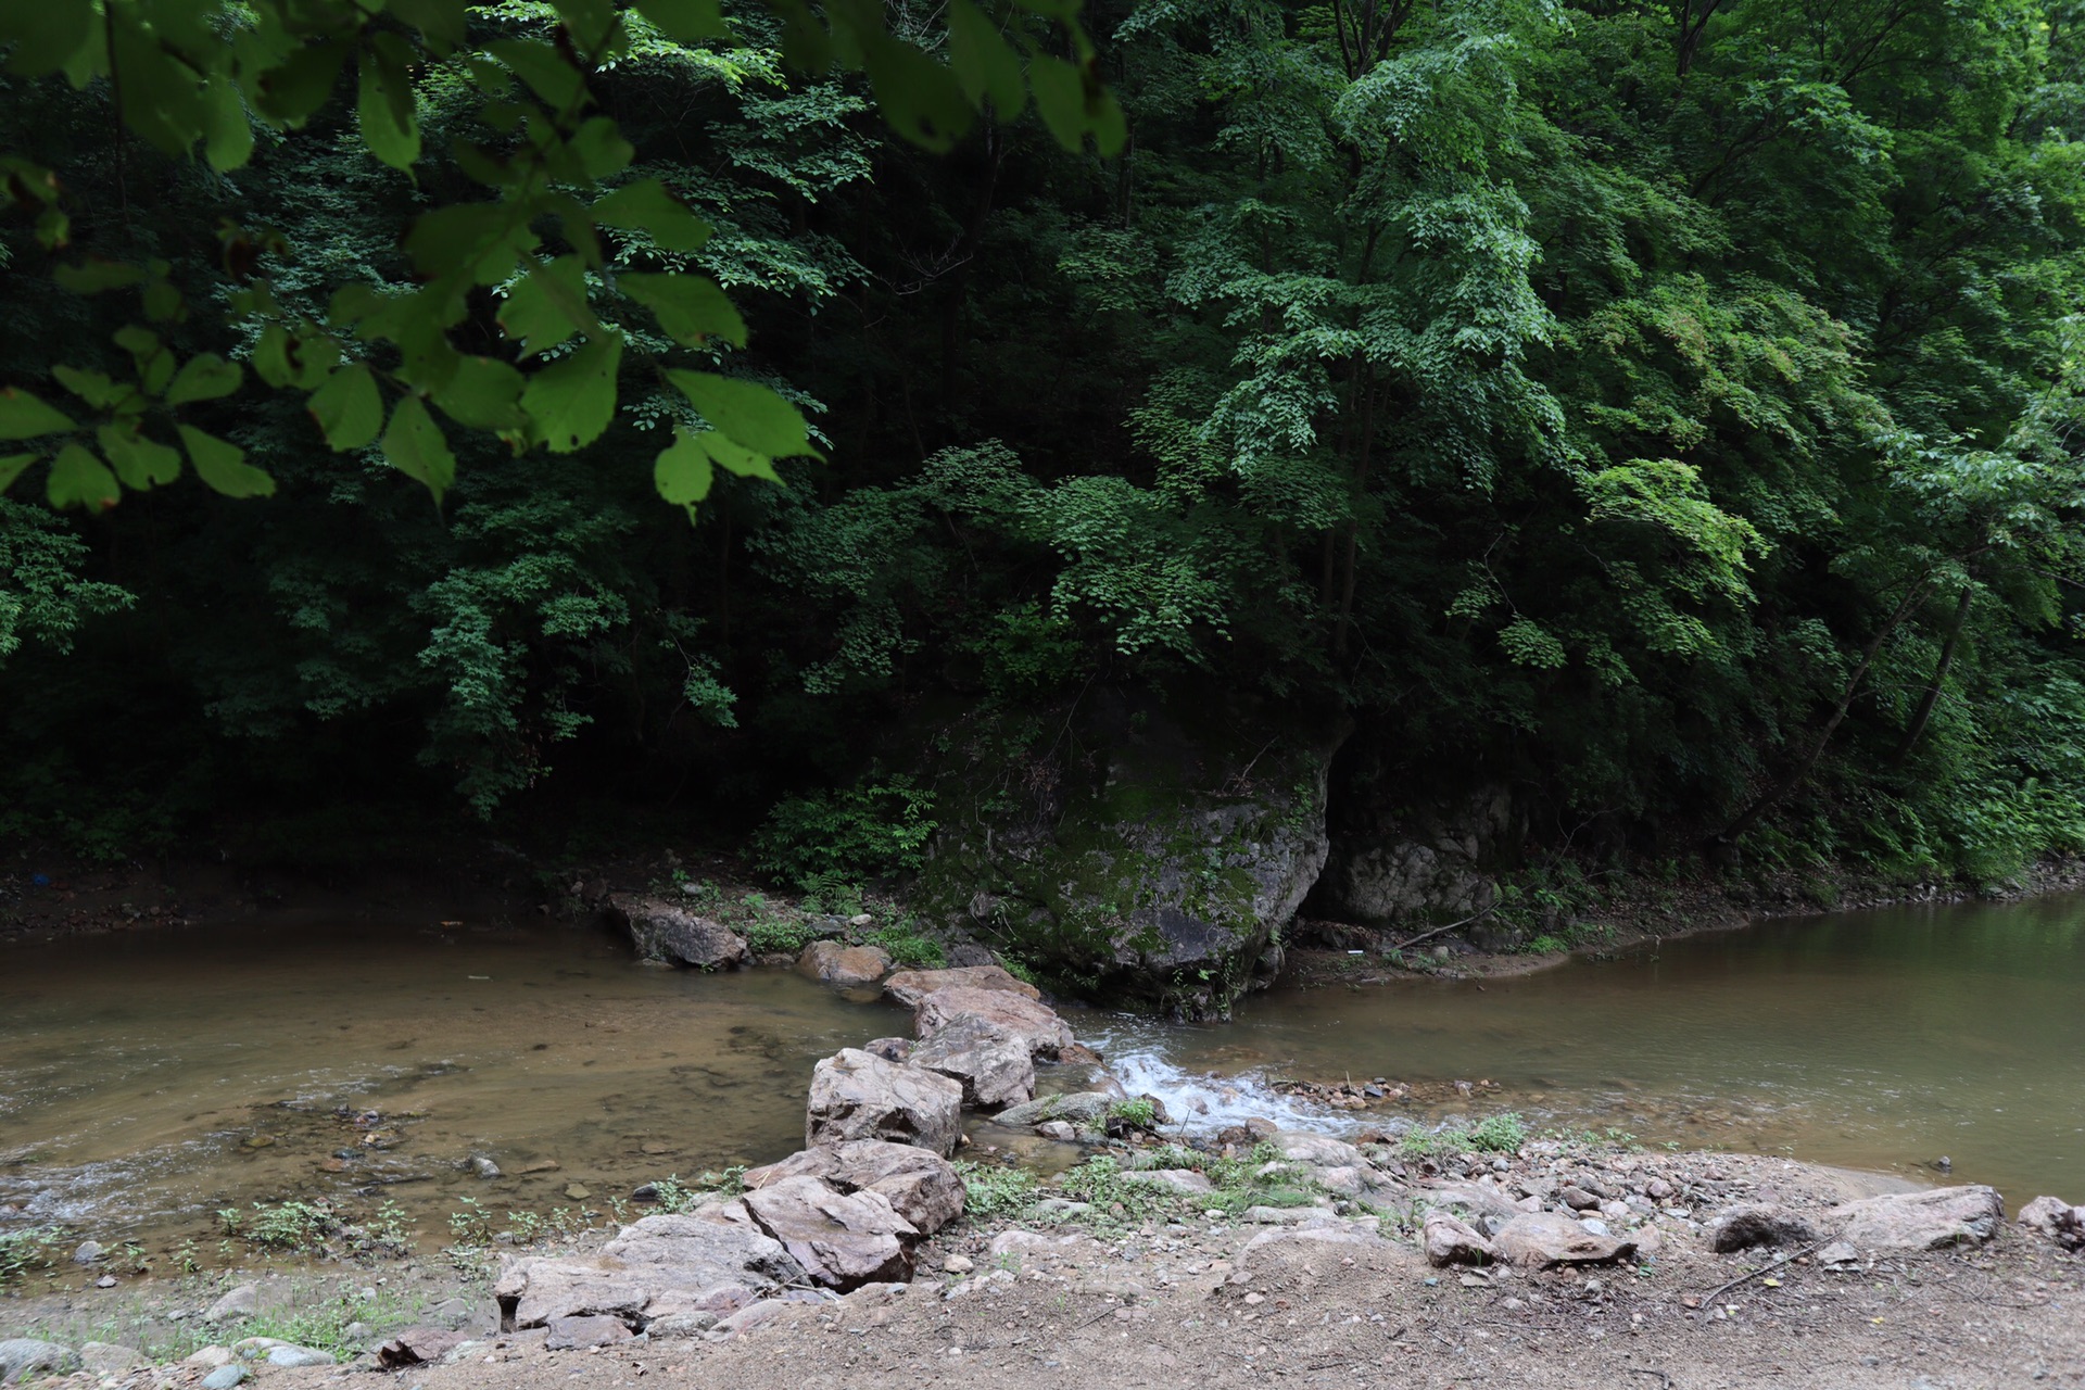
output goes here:
<path id="1" fill-rule="evenodd" d="M 740 1202 L 726 1202 L 703 1215 L 644 1217 L 594 1257 L 513 1261 L 492 1296 L 509 1332 L 596 1315 L 642 1327 L 686 1313 L 723 1317 L 803 1280 L 782 1242 Z"/>

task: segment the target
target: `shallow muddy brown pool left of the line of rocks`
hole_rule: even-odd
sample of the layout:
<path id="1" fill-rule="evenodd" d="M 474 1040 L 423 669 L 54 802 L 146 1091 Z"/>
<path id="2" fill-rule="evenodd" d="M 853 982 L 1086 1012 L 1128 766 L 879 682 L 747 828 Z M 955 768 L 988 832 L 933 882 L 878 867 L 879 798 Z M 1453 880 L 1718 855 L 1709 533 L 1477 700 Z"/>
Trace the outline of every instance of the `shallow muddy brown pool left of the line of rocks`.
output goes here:
<path id="1" fill-rule="evenodd" d="M 653 1177 L 801 1146 L 811 1065 L 905 1021 L 790 971 L 646 969 L 615 938 L 555 927 L 21 946 L 0 954 L 0 1221 L 163 1246 L 290 1196 L 390 1198 L 427 1236 L 465 1196 L 496 1225 L 607 1209 Z M 354 1123 L 371 1109 L 384 1119 Z M 505 1177 L 467 1171 L 471 1155 Z"/>

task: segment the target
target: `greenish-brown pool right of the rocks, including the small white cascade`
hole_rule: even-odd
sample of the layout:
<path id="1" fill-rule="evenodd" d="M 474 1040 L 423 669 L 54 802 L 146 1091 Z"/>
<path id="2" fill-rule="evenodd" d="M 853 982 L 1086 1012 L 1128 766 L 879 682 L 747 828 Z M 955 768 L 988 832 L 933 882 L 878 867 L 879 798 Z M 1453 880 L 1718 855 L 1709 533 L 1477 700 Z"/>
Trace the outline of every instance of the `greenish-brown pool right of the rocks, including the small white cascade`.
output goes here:
<path id="1" fill-rule="evenodd" d="M 1497 1090 L 1462 1109 L 1989 1182 L 2012 1209 L 2041 1192 L 2085 1200 L 2075 896 L 1774 921 L 1520 979 L 1274 990 L 1228 1027 L 1095 1017 L 1080 1029 L 1188 1107 L 1224 1092 L 1197 1079 L 1211 1069 L 1489 1079 Z"/>

